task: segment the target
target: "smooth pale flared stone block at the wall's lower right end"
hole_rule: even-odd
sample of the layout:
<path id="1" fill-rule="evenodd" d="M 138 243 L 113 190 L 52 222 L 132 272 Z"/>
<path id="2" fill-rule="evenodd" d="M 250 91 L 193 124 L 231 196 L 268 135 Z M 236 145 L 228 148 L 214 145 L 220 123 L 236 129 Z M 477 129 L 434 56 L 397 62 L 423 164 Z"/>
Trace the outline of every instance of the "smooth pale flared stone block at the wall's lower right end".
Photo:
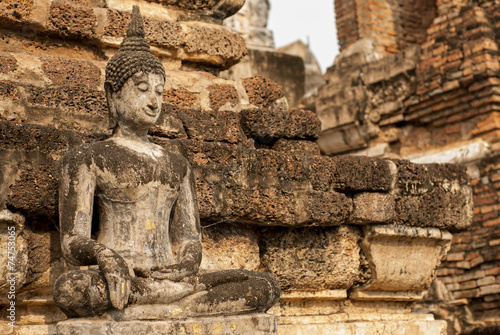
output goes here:
<path id="1" fill-rule="evenodd" d="M 404 291 L 420 293 L 429 288 L 451 244 L 451 234 L 435 228 L 365 226 L 363 235 L 361 248 L 370 265 L 371 278 L 359 291 L 375 293 L 381 300 L 406 299 L 409 296 Z M 398 294 L 401 291 L 403 296 Z M 351 298 L 363 299 L 355 292 Z"/>

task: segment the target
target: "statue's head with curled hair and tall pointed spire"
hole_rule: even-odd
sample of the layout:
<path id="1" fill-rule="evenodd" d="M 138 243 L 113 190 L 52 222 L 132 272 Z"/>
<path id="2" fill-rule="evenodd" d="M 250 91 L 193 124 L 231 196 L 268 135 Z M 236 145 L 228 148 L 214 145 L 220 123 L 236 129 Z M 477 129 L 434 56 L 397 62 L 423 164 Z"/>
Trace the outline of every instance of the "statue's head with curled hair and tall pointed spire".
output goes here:
<path id="1" fill-rule="evenodd" d="M 149 128 L 160 115 L 165 69 L 144 37 L 141 13 L 134 6 L 127 36 L 106 65 L 109 128 L 118 120 Z"/>

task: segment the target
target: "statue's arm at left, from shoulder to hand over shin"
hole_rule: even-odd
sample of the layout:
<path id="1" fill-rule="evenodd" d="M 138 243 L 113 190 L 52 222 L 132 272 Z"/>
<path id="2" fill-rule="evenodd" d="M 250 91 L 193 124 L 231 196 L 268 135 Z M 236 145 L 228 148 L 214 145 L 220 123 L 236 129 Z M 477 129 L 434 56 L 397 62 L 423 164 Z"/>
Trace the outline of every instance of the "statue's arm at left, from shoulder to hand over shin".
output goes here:
<path id="1" fill-rule="evenodd" d="M 63 160 L 59 181 L 61 246 L 75 265 L 98 265 L 106 278 L 111 304 L 128 303 L 131 279 L 125 260 L 91 238 L 96 175 L 87 150 L 70 151 Z"/>

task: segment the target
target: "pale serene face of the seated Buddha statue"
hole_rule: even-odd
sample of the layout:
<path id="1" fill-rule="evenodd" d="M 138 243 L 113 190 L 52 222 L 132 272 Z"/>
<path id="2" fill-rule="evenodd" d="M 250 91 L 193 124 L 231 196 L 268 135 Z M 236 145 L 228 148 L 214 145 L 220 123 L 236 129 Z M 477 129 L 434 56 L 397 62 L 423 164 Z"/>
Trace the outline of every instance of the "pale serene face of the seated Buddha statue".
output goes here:
<path id="1" fill-rule="evenodd" d="M 164 85 L 159 74 L 137 72 L 120 91 L 108 94 L 118 124 L 133 130 L 154 126 L 160 116 Z"/>

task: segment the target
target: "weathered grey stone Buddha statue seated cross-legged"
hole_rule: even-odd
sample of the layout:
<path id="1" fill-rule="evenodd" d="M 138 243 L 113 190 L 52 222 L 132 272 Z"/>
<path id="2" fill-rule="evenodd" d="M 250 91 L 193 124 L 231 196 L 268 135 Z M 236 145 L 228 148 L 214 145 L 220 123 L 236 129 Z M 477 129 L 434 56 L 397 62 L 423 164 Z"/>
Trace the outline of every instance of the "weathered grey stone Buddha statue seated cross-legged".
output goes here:
<path id="1" fill-rule="evenodd" d="M 193 171 L 183 156 L 147 138 L 160 115 L 165 70 L 144 36 L 134 6 L 127 37 L 106 67 L 113 135 L 81 145 L 63 160 L 62 250 L 70 263 L 88 268 L 61 275 L 54 301 L 69 317 L 133 304 L 171 304 L 189 315 L 266 311 L 280 295 L 272 275 L 199 270 Z"/>

